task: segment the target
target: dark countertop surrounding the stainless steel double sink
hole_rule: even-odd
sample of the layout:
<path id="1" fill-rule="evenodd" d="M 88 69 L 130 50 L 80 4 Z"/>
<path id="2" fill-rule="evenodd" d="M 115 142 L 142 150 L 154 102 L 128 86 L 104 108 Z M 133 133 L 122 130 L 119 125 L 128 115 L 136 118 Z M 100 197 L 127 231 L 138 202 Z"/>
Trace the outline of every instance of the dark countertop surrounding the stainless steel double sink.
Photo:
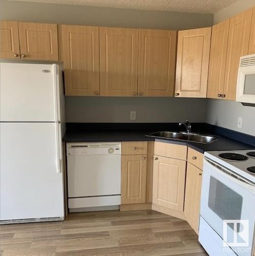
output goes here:
<path id="1" fill-rule="evenodd" d="M 69 125 L 70 126 L 70 125 Z M 147 137 L 146 135 L 152 132 L 157 131 L 179 131 L 178 126 L 176 124 L 170 125 L 171 129 L 160 129 L 160 128 L 166 128 L 158 125 L 158 129 L 142 129 L 143 127 L 139 126 L 137 127 L 137 130 L 125 130 L 125 129 L 111 129 L 111 130 L 102 130 L 98 129 L 98 127 L 90 126 L 91 130 L 89 129 L 90 125 L 86 125 L 84 129 L 79 127 L 79 129 L 73 129 L 74 127 L 71 127 L 72 129 L 68 129 L 63 137 L 63 141 L 65 142 L 111 142 L 111 141 L 160 141 L 160 142 L 166 142 L 166 143 L 174 143 L 174 144 L 181 144 L 181 145 L 187 145 L 189 147 L 194 148 L 195 150 L 204 153 L 205 151 L 223 151 L 223 150 L 252 150 L 255 149 L 255 137 L 244 135 L 237 132 L 231 132 L 231 130 L 228 131 L 221 131 L 221 129 L 212 129 L 212 127 L 208 126 L 207 124 L 199 124 L 199 126 L 196 127 L 196 130 L 193 129 L 193 131 L 197 131 L 200 134 L 207 134 L 207 135 L 215 135 L 218 136 L 218 140 L 213 141 L 208 144 L 203 143 L 196 143 L 196 142 L 186 142 L 186 141 L 178 141 L 178 140 L 169 140 L 169 139 L 157 139 L 153 137 Z M 107 126 L 107 125 L 104 125 Z M 155 126 L 155 125 L 154 125 Z M 170 127 L 168 126 L 168 128 Z M 196 124 L 194 124 L 196 126 Z M 207 127 L 208 126 L 208 127 Z M 123 126 L 123 128 L 125 125 Z M 69 127 L 70 128 L 70 127 Z M 96 128 L 96 130 L 95 130 Z M 121 128 L 121 127 L 120 127 Z M 150 126 L 149 128 L 152 128 Z M 175 128 L 175 129 L 174 129 Z M 172 130 L 173 129 L 173 130 Z M 227 129 L 224 129 L 227 130 Z M 234 134 L 231 134 L 234 133 Z M 223 135 L 222 135 L 223 134 Z M 224 136 L 224 135 L 227 136 Z M 233 136 L 233 139 L 231 138 Z M 243 136 L 243 137 L 242 137 Z M 243 141 L 242 141 L 243 139 Z M 247 141 L 250 142 L 247 144 Z M 246 143 L 244 143 L 246 142 Z"/>

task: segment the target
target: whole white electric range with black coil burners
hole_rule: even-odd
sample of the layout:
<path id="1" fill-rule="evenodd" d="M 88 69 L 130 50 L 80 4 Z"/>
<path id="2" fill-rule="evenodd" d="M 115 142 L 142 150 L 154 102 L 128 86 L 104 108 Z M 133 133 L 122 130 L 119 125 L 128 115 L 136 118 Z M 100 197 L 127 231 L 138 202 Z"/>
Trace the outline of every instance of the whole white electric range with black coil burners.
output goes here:
<path id="1" fill-rule="evenodd" d="M 210 256 L 253 255 L 255 150 L 204 153 L 199 242 Z"/>

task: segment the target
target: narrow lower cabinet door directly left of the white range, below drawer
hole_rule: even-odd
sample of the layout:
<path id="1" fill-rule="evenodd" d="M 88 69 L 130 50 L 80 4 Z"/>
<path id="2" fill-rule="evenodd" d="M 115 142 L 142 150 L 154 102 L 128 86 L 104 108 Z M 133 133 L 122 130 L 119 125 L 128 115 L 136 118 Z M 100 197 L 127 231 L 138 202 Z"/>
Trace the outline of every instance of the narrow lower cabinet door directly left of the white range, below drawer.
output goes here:
<path id="1" fill-rule="evenodd" d="M 202 171 L 191 163 L 187 165 L 184 215 L 198 233 Z"/>

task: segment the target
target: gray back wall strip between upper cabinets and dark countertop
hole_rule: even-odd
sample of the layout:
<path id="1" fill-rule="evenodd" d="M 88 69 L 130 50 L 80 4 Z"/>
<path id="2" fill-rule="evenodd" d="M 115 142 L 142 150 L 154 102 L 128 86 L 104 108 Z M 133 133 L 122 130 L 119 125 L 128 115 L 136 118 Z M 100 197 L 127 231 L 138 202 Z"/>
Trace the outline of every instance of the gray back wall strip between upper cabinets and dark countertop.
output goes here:
<path id="1" fill-rule="evenodd" d="M 204 122 L 206 99 L 65 97 L 67 122 Z M 136 120 L 130 120 L 136 111 Z"/>

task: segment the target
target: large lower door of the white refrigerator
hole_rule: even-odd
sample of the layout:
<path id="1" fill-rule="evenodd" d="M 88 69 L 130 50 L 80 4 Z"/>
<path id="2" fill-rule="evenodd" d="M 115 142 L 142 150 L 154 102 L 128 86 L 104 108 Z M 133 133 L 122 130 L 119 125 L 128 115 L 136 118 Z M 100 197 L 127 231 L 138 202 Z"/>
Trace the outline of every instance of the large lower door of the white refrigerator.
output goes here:
<path id="1" fill-rule="evenodd" d="M 58 125 L 1 123 L 1 220 L 64 216 Z"/>

